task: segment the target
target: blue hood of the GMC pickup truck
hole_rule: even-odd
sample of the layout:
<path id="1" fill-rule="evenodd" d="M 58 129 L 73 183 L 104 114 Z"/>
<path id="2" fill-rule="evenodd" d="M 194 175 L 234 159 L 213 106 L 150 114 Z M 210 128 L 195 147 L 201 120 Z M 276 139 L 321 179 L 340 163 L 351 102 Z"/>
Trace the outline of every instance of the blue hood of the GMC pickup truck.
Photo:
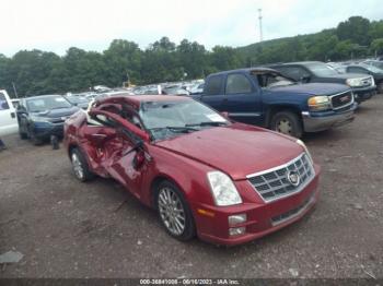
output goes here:
<path id="1" fill-rule="evenodd" d="M 294 84 L 269 88 L 268 91 L 286 92 L 294 94 L 310 94 L 310 95 L 332 95 L 350 90 L 345 84 L 338 83 L 305 83 L 305 84 Z"/>

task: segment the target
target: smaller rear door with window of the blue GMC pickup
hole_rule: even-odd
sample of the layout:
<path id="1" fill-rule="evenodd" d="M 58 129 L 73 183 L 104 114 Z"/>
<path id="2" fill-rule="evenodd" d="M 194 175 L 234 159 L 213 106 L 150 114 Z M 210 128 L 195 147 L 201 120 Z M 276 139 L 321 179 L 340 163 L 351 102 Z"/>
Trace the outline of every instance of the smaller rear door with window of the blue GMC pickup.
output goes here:
<path id="1" fill-rule="evenodd" d="M 224 111 L 223 102 L 225 100 L 223 82 L 224 74 L 211 75 L 207 79 L 205 93 L 200 96 L 200 100 L 218 111 Z"/>

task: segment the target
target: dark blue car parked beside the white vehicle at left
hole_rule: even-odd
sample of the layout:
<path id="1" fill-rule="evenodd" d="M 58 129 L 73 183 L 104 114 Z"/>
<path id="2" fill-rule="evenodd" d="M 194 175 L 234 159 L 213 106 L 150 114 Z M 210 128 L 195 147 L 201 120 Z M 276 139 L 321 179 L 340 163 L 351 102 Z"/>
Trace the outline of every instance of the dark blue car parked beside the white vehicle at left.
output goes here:
<path id="1" fill-rule="evenodd" d="M 18 107 L 19 134 L 35 145 L 50 135 L 62 138 L 63 122 L 79 110 L 61 95 L 40 95 L 22 98 Z"/>

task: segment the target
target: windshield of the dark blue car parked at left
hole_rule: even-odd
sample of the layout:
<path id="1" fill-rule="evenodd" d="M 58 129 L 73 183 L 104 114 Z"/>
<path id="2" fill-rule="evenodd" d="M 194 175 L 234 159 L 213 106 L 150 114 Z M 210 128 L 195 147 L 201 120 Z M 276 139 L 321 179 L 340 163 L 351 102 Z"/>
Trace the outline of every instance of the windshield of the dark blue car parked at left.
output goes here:
<path id="1" fill-rule="evenodd" d="M 72 105 L 60 95 L 42 96 L 26 99 L 27 108 L 31 112 L 42 112 L 51 109 L 68 108 Z"/>

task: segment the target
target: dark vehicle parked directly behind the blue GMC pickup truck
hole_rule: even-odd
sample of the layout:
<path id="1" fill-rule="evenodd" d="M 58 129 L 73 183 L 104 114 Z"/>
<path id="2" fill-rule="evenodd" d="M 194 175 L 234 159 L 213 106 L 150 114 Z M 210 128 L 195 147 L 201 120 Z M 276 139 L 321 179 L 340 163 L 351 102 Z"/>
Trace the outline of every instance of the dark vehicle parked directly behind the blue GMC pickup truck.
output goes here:
<path id="1" fill-rule="evenodd" d="M 301 61 L 270 64 L 268 68 L 280 71 L 285 76 L 302 83 L 340 83 L 352 88 L 358 104 L 370 99 L 376 93 L 371 75 L 362 73 L 339 73 L 321 61 Z"/>

